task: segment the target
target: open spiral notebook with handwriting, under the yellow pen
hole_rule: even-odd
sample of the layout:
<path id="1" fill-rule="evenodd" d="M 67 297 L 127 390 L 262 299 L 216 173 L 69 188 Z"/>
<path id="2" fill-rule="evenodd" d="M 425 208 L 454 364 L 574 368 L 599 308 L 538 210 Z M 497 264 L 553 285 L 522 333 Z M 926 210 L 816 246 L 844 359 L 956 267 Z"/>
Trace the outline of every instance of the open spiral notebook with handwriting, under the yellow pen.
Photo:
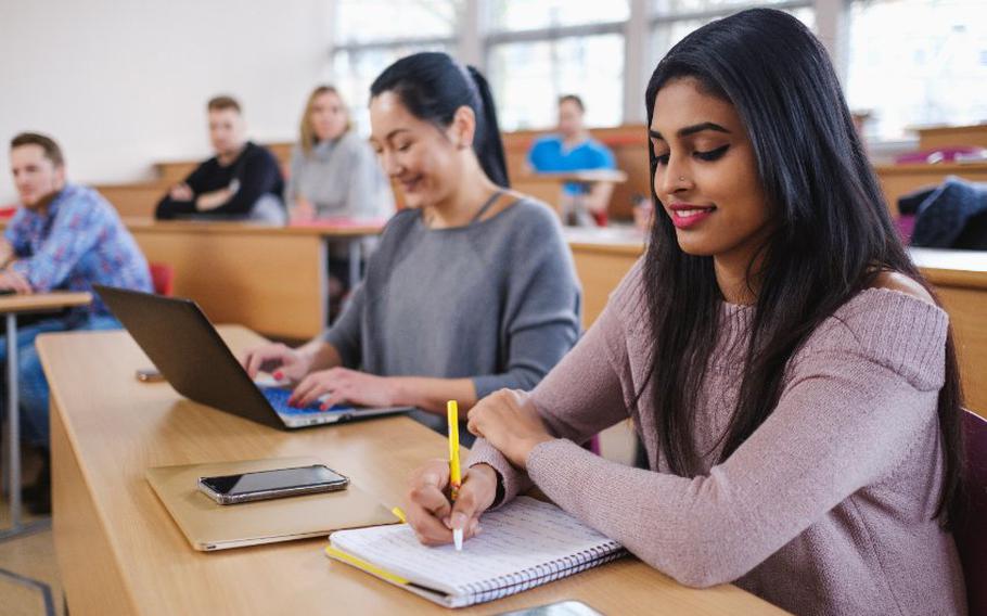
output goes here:
<path id="1" fill-rule="evenodd" d="M 627 552 L 557 506 L 528 497 L 486 513 L 483 532 L 422 546 L 407 524 L 339 530 L 325 553 L 446 607 L 484 603 L 616 560 Z"/>

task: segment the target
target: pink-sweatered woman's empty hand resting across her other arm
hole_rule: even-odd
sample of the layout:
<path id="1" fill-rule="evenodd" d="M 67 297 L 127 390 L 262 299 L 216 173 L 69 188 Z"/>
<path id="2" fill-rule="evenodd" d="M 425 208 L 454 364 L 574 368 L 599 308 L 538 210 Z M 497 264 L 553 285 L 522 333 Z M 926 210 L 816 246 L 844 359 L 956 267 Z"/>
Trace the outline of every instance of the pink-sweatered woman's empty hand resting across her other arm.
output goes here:
<path id="1" fill-rule="evenodd" d="M 515 467 L 527 467 L 528 453 L 554 440 L 524 392 L 501 389 L 470 409 L 467 428 L 496 447 Z"/>

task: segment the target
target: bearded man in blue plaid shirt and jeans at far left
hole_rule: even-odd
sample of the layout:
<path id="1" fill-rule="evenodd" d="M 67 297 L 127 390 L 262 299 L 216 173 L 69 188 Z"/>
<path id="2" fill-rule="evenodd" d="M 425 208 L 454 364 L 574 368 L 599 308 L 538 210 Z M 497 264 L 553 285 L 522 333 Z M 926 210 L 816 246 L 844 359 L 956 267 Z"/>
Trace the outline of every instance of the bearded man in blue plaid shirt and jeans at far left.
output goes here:
<path id="1" fill-rule="evenodd" d="M 66 182 L 57 143 L 43 134 L 22 133 L 11 141 L 10 158 L 21 207 L 0 239 L 0 290 L 91 291 L 93 284 L 152 290 L 148 261 L 113 206 L 92 189 Z M 42 452 L 49 442 L 48 382 L 35 350 L 35 337 L 44 332 L 119 326 L 106 306 L 94 298 L 90 306 L 43 317 L 18 329 L 24 437 Z M 0 362 L 7 362 L 2 336 Z M 5 380 L 2 383 L 5 388 Z M 25 490 L 28 509 L 36 513 L 51 509 L 50 477 L 44 471 L 36 489 Z"/>

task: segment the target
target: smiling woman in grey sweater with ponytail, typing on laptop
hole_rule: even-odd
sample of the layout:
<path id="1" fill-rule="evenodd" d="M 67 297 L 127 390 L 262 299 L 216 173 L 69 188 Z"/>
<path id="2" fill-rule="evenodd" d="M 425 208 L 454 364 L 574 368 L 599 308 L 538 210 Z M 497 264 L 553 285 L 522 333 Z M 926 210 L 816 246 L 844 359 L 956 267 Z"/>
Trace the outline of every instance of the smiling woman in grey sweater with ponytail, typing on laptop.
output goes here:
<path id="1" fill-rule="evenodd" d="M 580 293 L 555 214 L 508 187 L 486 79 L 444 53 L 399 60 L 371 86 L 371 143 L 408 208 L 323 335 L 243 364 L 295 387 L 290 403 L 412 406 L 445 432 L 472 407 L 533 388 L 579 336 Z"/>

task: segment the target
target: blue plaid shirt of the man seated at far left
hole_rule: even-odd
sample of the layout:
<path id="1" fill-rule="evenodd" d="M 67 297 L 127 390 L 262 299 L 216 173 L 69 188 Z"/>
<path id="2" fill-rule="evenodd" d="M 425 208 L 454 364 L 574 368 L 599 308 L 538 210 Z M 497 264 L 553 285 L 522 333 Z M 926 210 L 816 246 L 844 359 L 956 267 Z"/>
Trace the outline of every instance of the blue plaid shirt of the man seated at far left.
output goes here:
<path id="1" fill-rule="evenodd" d="M 39 293 L 92 291 L 93 284 L 152 291 L 143 253 L 116 209 L 92 189 L 66 184 L 44 214 L 21 207 L 3 236 L 17 256 L 10 268 Z M 93 297 L 90 306 L 74 309 L 69 320 L 108 315 Z"/>

